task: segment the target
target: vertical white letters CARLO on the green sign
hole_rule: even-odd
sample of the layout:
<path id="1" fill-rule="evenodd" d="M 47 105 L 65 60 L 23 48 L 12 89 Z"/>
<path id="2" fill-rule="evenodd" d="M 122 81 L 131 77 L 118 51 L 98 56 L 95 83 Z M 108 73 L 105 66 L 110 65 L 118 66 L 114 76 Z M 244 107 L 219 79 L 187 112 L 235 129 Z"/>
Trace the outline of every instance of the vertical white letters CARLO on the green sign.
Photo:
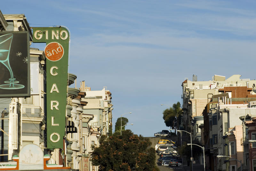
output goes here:
<path id="1" fill-rule="evenodd" d="M 58 69 L 57 66 L 52 66 L 51 67 L 50 73 L 51 73 L 52 76 L 58 75 L 58 73 L 56 72 L 57 69 Z M 50 93 L 52 93 L 53 91 L 56 91 L 57 93 L 59 93 L 59 89 L 58 89 L 58 87 L 55 83 L 52 84 L 52 88 L 51 88 Z M 56 110 L 59 110 L 58 105 L 59 105 L 59 102 L 57 100 L 51 100 L 51 110 L 53 110 L 53 108 L 55 108 Z M 54 116 L 52 116 L 52 126 L 59 126 L 58 123 L 54 123 Z M 58 137 L 57 140 L 54 140 L 52 138 L 52 136 L 54 136 L 54 135 L 56 135 Z M 54 132 L 54 133 L 51 134 L 50 139 L 51 139 L 52 142 L 56 143 L 60 140 L 60 134 Z"/>

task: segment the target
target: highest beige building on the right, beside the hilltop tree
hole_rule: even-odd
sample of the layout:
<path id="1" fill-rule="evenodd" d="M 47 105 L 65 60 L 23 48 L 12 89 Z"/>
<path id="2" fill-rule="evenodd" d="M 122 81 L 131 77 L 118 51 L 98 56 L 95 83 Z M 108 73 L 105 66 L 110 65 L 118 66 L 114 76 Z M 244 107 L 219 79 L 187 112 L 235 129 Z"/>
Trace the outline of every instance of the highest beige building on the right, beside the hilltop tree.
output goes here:
<path id="1" fill-rule="evenodd" d="M 211 101 L 213 95 L 221 94 L 219 89 L 224 87 L 248 87 L 251 88 L 252 94 L 256 91 L 256 81 L 250 79 L 240 79 L 241 75 L 232 75 L 228 79 L 225 76 L 214 75 L 212 80 L 209 81 L 197 81 L 197 76 L 193 75 L 193 81 L 186 79 L 182 82 L 182 99 L 183 99 L 183 118 L 180 124 L 180 129 L 186 130 L 192 133 L 193 139 L 195 138 L 195 131 L 192 126 L 193 119 L 196 116 L 203 116 L 203 111 L 207 103 Z M 229 98 L 236 98 L 237 94 Z M 199 124 L 194 123 L 195 125 Z M 196 127 L 195 127 L 196 128 Z"/>

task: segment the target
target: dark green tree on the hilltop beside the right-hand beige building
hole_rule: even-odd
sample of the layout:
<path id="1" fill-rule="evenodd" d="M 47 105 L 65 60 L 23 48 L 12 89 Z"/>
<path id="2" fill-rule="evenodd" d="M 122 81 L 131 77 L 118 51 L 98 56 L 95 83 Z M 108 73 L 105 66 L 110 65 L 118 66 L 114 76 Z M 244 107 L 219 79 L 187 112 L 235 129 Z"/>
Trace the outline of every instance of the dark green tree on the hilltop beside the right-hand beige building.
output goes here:
<path id="1" fill-rule="evenodd" d="M 180 107 L 180 102 L 177 102 L 176 104 L 173 104 L 169 109 L 165 109 L 163 111 L 163 119 L 167 127 L 172 127 L 172 129 L 179 129 L 182 115 L 182 109 Z"/>

